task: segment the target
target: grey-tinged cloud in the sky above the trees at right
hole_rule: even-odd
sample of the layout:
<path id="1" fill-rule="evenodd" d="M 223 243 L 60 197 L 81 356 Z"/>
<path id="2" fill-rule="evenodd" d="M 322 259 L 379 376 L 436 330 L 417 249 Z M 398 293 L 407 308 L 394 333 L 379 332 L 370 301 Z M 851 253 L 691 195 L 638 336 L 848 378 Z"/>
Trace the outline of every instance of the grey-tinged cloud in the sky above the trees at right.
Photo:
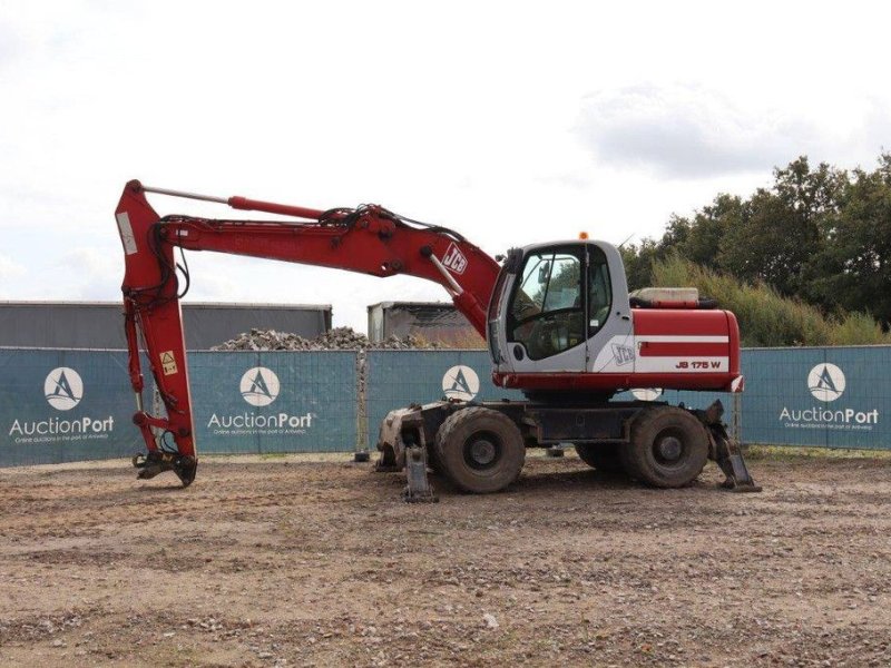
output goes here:
<path id="1" fill-rule="evenodd" d="M 833 163 L 874 157 L 890 110 L 878 99 L 851 105 L 838 125 L 835 116 L 734 100 L 703 86 L 647 85 L 589 96 L 577 131 L 603 164 L 702 178 L 765 173 L 809 154 Z"/>

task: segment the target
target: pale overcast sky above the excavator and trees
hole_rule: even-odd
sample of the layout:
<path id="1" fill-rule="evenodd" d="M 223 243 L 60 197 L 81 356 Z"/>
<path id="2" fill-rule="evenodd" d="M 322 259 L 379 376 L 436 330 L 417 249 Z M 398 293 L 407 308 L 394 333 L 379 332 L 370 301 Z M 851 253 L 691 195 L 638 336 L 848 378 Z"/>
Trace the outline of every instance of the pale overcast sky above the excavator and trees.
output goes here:
<path id="1" fill-rule="evenodd" d="M 495 255 L 659 236 L 772 169 L 891 148 L 878 2 L 0 0 L 0 299 L 117 301 L 131 178 L 378 203 Z M 153 197 L 160 214 L 225 207 Z M 190 254 L 187 301 L 447 299 L 414 278 Z"/>

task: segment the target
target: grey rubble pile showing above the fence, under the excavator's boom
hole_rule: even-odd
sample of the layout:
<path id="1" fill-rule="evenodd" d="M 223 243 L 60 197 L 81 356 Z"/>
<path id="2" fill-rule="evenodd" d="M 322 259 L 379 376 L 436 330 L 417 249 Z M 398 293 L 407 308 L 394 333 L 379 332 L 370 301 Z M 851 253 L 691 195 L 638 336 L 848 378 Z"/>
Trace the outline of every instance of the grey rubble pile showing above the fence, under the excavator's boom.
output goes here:
<path id="1" fill-rule="evenodd" d="M 439 343 L 430 343 L 419 336 L 409 334 L 399 338 L 391 336 L 385 341 L 372 343 L 364 334 L 352 327 L 334 327 L 315 338 L 304 338 L 287 332 L 275 330 L 251 330 L 235 338 L 215 345 L 213 351 L 400 351 L 410 348 L 439 348 Z"/>

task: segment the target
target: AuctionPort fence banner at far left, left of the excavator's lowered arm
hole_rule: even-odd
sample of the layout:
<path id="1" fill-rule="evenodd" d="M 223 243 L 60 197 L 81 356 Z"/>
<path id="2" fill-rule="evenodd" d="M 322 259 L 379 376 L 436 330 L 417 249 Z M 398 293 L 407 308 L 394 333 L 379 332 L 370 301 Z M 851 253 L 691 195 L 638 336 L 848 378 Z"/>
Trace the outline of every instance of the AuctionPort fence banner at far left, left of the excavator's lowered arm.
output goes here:
<path id="1" fill-rule="evenodd" d="M 0 465 L 130 455 L 127 354 L 0 350 Z"/>

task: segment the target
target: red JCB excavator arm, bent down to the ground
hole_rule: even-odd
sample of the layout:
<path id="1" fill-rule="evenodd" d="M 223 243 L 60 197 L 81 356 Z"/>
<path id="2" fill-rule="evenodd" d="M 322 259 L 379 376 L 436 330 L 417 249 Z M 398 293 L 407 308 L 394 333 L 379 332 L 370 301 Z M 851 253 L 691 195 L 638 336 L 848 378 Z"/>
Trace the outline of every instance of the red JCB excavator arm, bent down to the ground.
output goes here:
<path id="1" fill-rule="evenodd" d="M 146 199 L 147 193 L 216 202 L 292 219 L 161 217 Z M 150 188 L 134 180 L 124 188 L 115 215 L 125 254 L 121 291 L 129 375 L 137 404 L 134 423 L 148 449 L 146 456 L 134 458 L 134 464 L 144 479 L 174 471 L 188 485 L 197 470 L 179 307 L 188 288 L 188 271 L 185 258 L 176 262 L 177 247 L 433 281 L 446 288 L 456 307 L 486 336 L 486 312 L 498 278 L 498 263 L 458 233 L 404 218 L 376 205 L 317 210 L 244 197 L 218 198 Z M 145 350 L 166 416 L 151 415 L 144 407 L 140 350 Z"/>

